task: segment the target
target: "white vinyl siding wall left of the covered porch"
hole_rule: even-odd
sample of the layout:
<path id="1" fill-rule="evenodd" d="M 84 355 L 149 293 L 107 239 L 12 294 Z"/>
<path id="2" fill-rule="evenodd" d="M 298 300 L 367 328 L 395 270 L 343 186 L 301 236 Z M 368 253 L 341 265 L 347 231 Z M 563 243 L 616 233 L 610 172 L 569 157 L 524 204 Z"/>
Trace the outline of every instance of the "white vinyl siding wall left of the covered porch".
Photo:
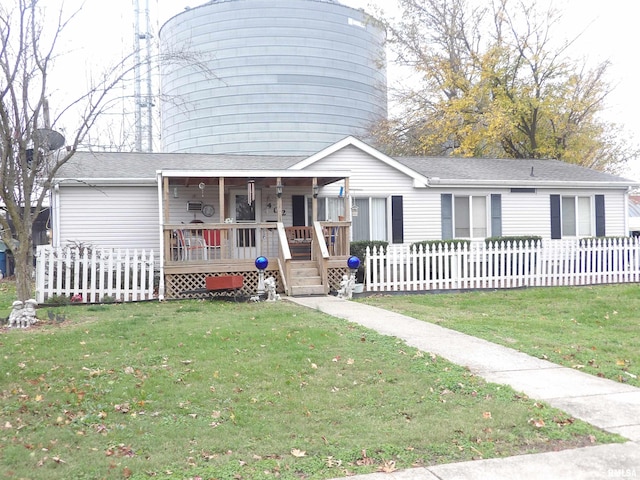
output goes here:
<path id="1" fill-rule="evenodd" d="M 60 188 L 60 245 L 160 248 L 158 189 L 152 186 Z M 54 232 L 55 234 L 55 232 Z"/>

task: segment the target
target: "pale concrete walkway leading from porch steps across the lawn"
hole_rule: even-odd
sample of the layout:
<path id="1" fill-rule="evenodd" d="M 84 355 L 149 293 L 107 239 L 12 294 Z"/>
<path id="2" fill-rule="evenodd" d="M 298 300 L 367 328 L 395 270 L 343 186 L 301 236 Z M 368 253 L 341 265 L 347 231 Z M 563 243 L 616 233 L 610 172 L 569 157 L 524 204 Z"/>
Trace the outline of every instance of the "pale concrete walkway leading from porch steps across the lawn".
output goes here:
<path id="1" fill-rule="evenodd" d="M 489 382 L 507 384 L 575 418 L 619 433 L 624 444 L 478 460 L 351 477 L 358 480 L 640 479 L 640 389 L 561 367 L 438 325 L 336 297 L 289 301 L 435 353 Z"/>

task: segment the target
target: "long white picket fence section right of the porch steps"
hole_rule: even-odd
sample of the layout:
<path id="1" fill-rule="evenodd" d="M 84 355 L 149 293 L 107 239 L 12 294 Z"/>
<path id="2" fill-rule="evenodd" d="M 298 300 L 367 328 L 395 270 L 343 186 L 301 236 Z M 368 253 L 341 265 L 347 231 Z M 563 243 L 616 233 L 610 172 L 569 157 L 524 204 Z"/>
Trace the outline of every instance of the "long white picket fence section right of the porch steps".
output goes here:
<path id="1" fill-rule="evenodd" d="M 593 285 L 640 281 L 637 238 L 390 245 L 367 249 L 367 291 Z"/>

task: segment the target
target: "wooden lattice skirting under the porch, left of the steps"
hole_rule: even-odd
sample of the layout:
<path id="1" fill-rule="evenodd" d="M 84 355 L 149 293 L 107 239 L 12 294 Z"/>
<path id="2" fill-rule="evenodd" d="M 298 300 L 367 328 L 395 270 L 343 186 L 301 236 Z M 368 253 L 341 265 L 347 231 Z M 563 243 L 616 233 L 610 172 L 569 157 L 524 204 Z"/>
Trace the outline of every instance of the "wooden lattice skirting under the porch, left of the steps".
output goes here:
<path id="1" fill-rule="evenodd" d="M 243 285 L 238 295 L 244 297 L 250 297 L 255 295 L 258 290 L 258 272 L 253 271 L 234 271 L 234 272 L 212 272 L 212 273 L 175 273 L 165 275 L 165 298 L 203 298 L 210 297 L 211 295 L 219 296 L 233 296 L 234 292 L 214 292 L 214 293 L 183 293 L 193 292 L 194 290 L 200 290 L 205 288 L 206 277 L 217 277 L 224 275 L 242 275 L 244 277 Z M 276 270 L 267 270 L 265 272 L 265 278 L 274 277 L 276 279 L 276 291 L 282 293 L 282 281 L 280 279 L 280 273 Z M 339 285 L 339 283 L 338 283 Z"/>

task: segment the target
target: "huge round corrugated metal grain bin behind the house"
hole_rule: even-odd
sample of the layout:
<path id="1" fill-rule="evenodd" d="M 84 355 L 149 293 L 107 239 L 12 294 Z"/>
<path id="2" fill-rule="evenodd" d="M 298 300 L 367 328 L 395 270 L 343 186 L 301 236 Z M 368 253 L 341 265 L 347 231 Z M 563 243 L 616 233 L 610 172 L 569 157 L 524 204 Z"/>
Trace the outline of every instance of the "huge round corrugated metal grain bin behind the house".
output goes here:
<path id="1" fill-rule="evenodd" d="M 308 155 L 386 117 L 385 32 L 328 0 L 218 0 L 160 31 L 166 152 Z M 206 68 L 202 68 L 202 67 Z"/>

